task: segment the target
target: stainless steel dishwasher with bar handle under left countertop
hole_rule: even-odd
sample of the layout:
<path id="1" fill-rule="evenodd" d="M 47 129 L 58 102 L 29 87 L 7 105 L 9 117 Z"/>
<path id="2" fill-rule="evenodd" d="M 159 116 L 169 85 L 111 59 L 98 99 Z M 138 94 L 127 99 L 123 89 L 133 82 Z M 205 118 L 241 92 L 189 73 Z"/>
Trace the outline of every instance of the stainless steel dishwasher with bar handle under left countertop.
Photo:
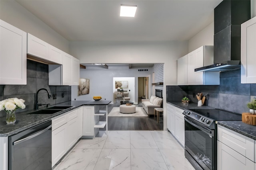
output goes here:
<path id="1" fill-rule="evenodd" d="M 52 121 L 8 137 L 9 170 L 52 169 Z"/>

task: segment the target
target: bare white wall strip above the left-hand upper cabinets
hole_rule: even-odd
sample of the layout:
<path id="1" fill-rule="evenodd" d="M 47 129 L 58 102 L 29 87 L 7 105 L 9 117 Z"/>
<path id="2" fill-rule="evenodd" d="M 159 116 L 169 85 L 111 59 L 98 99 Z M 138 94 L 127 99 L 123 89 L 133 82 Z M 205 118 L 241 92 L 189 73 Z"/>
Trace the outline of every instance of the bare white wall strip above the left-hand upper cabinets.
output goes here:
<path id="1" fill-rule="evenodd" d="M 14 0 L 0 0 L 0 19 L 69 53 L 68 41 Z"/>

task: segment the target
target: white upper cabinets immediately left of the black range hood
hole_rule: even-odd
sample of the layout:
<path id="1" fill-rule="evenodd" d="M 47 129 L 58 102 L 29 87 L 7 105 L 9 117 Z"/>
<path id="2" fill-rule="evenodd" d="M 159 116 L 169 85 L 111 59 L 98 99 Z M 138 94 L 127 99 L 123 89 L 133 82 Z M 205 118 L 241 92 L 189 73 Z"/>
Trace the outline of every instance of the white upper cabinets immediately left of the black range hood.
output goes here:
<path id="1" fill-rule="evenodd" d="M 178 74 L 177 74 L 178 85 L 219 85 L 220 84 L 220 72 L 195 72 L 194 70 L 195 68 L 200 68 L 203 66 L 213 64 L 213 46 L 212 45 L 202 46 L 188 53 L 187 58 L 188 58 L 187 70 L 184 68 L 185 61 L 182 64 L 178 64 Z M 186 75 L 187 75 L 187 84 L 185 84 Z M 183 80 L 183 81 L 179 81 L 179 80 Z"/>

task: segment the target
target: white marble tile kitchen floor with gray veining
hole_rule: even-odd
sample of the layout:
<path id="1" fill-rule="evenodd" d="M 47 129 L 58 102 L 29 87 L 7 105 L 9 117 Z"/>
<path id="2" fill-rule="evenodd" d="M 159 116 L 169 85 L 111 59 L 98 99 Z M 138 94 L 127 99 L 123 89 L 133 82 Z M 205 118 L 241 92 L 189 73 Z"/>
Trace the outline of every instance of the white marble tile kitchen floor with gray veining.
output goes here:
<path id="1" fill-rule="evenodd" d="M 108 131 L 80 140 L 54 170 L 194 170 L 167 131 Z"/>

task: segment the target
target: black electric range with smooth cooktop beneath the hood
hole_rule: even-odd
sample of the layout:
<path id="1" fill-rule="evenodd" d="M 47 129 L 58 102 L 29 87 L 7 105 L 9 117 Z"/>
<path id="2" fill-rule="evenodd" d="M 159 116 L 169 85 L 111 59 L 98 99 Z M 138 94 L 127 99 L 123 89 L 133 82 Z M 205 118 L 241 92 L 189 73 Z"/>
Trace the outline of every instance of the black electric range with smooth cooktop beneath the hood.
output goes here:
<path id="1" fill-rule="evenodd" d="M 184 110 L 185 156 L 196 170 L 216 170 L 216 121 L 242 120 L 242 115 L 221 109 Z"/>

